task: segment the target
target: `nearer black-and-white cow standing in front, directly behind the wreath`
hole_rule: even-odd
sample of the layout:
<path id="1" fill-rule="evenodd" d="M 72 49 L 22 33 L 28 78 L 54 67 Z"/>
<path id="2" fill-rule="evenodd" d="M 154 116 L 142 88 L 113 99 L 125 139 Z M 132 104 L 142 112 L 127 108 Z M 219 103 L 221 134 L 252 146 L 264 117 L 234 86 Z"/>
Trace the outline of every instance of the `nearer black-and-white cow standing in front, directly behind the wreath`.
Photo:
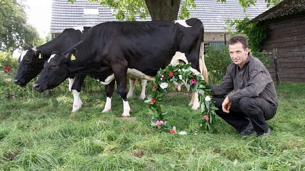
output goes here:
<path id="1" fill-rule="evenodd" d="M 88 30 L 85 38 L 71 49 L 52 55 L 33 87 L 36 91 L 44 91 L 58 86 L 69 76 L 90 75 L 101 68 L 111 68 L 114 74 L 108 76 L 109 72 L 101 72 L 101 81 L 111 84 L 109 92 L 113 92 L 115 78 L 117 92 L 123 99 L 122 117 L 128 117 L 130 107 L 126 76 L 153 80 L 158 70 L 165 68 L 177 51 L 184 53 L 191 67 L 200 71 L 202 45 L 203 25 L 198 19 L 105 22 Z M 111 96 L 107 95 L 106 106 L 109 99 Z M 192 109 L 198 109 L 198 96 L 194 99 Z"/>

